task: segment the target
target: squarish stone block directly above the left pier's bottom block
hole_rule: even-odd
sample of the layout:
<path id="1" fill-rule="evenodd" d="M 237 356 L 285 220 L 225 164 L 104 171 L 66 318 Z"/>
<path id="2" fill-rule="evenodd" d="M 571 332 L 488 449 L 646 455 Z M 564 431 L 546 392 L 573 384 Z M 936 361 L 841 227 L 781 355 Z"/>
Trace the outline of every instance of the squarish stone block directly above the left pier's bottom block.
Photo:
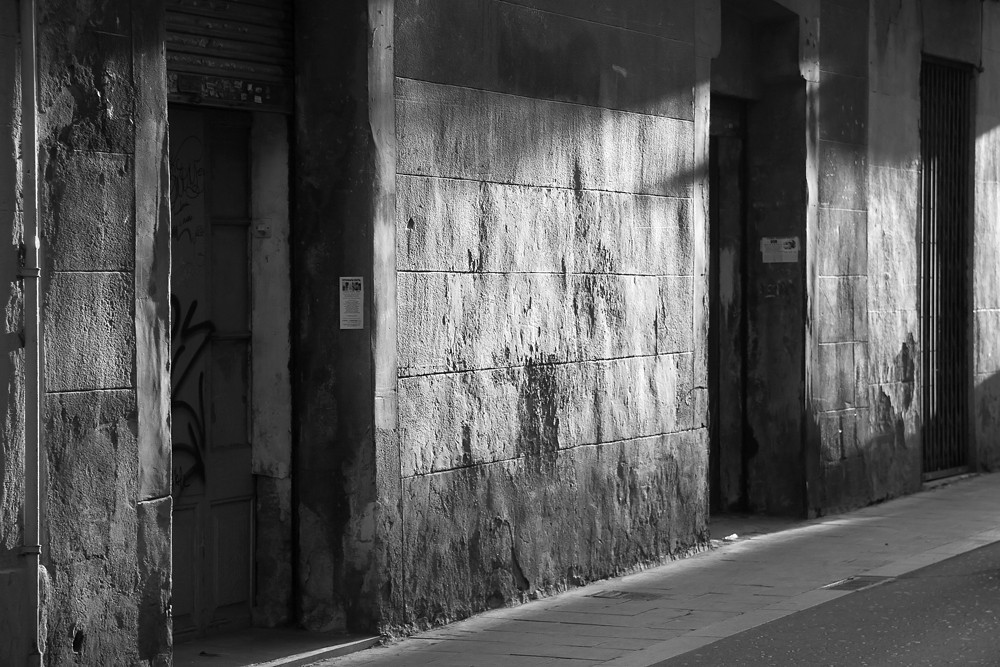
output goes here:
<path id="1" fill-rule="evenodd" d="M 45 294 L 45 388 L 132 386 L 132 276 L 55 273 Z"/>

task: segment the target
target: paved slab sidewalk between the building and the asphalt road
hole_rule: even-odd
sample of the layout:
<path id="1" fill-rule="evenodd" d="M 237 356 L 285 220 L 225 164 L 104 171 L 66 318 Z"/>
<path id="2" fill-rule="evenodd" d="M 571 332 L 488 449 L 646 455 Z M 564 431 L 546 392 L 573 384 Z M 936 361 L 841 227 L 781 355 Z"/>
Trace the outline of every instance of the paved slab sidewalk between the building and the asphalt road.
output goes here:
<path id="1" fill-rule="evenodd" d="M 750 521 L 778 530 L 316 665 L 651 665 L 1000 541 L 1000 475 L 813 521 Z M 872 579 L 824 588 L 850 577 Z"/>

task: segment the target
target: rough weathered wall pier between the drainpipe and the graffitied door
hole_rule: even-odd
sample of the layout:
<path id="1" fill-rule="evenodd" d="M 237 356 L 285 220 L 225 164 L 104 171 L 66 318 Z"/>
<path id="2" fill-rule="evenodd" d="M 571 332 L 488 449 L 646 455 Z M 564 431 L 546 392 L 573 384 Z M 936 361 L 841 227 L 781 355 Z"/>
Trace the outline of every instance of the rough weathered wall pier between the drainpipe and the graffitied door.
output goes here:
<path id="1" fill-rule="evenodd" d="M 39 3 L 46 664 L 169 660 L 161 9 Z"/>

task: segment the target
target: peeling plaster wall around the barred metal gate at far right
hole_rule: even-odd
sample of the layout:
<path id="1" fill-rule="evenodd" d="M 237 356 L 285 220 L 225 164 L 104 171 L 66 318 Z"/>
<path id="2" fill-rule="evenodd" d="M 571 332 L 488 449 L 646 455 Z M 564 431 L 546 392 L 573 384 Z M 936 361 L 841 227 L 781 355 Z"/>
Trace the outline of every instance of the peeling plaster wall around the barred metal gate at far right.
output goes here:
<path id="1" fill-rule="evenodd" d="M 835 511 L 920 488 L 922 420 L 920 339 L 920 69 L 923 54 L 976 64 L 980 10 L 992 3 L 823 3 L 820 88 L 821 215 L 818 262 L 821 329 L 812 406 L 819 416 L 820 469 L 811 510 Z M 865 22 L 865 23 L 863 23 Z M 864 44 L 857 25 L 867 24 Z M 987 29 L 986 34 L 991 34 Z M 829 44 L 828 50 L 823 45 Z M 984 49 L 985 54 L 988 53 Z M 866 58 L 867 56 L 867 58 Z M 827 70 L 831 74 L 826 74 Z M 977 340 L 989 341 L 996 289 L 990 267 L 988 131 L 996 114 L 979 77 L 975 307 Z M 829 94 L 828 94 L 829 93 Z M 988 94 L 988 93 L 987 93 Z M 830 100 L 835 100 L 831 109 Z M 866 108 L 867 107 L 867 108 Z M 823 142 L 821 142 L 823 143 Z M 843 200 L 832 202 L 827 192 Z M 995 180 L 995 179 L 994 179 Z M 824 224 L 824 219 L 828 222 Z M 823 274 L 830 278 L 823 278 Z M 824 289 L 832 281 L 836 292 Z M 828 307 L 825 306 L 828 304 Z M 826 318 L 823 312 L 826 311 Z M 829 326 L 824 319 L 834 323 Z M 847 326 L 849 325 L 849 326 Z M 830 332 L 824 338 L 823 327 Z M 989 355 L 977 348 L 977 424 L 990 432 Z M 990 442 L 981 437 L 980 442 Z M 985 445 L 990 459 L 993 445 Z M 984 448 L 981 447 L 981 451 Z"/>

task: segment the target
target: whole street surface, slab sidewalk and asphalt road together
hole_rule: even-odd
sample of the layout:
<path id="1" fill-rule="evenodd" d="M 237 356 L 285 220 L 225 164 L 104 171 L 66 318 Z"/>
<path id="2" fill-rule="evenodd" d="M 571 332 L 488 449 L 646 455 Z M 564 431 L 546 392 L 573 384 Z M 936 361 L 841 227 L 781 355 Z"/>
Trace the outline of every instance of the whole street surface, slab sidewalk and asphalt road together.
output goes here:
<path id="1" fill-rule="evenodd" d="M 1000 475 L 982 475 L 315 665 L 996 664 L 998 541 Z M 909 644 L 841 641 L 882 632 Z"/>

